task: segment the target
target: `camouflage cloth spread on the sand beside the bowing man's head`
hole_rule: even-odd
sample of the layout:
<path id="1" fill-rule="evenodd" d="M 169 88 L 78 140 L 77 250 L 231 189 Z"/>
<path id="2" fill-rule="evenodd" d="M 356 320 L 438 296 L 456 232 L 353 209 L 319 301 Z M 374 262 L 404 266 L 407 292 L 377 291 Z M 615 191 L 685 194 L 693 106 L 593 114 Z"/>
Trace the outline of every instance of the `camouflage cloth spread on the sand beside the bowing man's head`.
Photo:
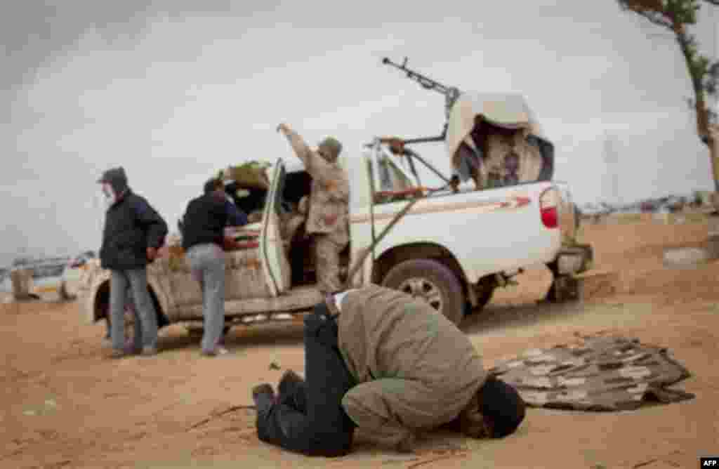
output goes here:
<path id="1" fill-rule="evenodd" d="M 582 411 L 638 409 L 693 394 L 669 389 L 690 377 L 669 351 L 625 337 L 583 337 L 574 345 L 528 350 L 491 373 L 516 386 L 528 406 Z"/>

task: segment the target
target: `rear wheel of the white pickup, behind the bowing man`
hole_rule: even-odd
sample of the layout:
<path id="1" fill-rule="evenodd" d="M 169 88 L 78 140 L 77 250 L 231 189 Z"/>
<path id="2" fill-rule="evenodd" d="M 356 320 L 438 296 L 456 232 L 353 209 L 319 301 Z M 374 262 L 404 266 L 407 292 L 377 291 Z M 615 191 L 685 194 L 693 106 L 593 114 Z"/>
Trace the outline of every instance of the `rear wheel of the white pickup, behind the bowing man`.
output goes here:
<path id="1" fill-rule="evenodd" d="M 387 273 L 382 284 L 423 299 L 456 326 L 462 322 L 462 286 L 452 270 L 436 260 L 412 259 L 399 263 Z"/>

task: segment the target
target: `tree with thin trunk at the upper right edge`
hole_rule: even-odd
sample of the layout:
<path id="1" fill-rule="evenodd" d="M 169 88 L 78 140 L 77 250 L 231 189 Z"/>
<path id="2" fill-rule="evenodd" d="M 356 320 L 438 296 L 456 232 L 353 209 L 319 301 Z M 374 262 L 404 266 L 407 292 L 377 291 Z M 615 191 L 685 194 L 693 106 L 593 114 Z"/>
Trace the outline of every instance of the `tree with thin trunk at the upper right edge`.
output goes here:
<path id="1" fill-rule="evenodd" d="M 697 49 L 695 35 L 689 27 L 697 23 L 702 4 L 719 6 L 719 0 L 617 0 L 624 11 L 631 11 L 659 27 L 669 29 L 677 40 L 687 64 L 694 98 L 687 99 L 697 118 L 697 135 L 709 147 L 714 178 L 715 200 L 719 201 L 719 123 L 710 109 L 710 99 L 717 96 L 719 60 L 712 62 Z"/>

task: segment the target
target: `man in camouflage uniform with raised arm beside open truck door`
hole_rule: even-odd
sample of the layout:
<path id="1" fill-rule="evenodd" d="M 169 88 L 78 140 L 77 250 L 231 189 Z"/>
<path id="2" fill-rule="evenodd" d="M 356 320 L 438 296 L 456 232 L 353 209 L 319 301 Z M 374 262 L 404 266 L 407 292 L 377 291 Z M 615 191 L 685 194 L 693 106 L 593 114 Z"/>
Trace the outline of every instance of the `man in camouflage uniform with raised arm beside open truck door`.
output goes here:
<path id="1" fill-rule="evenodd" d="M 312 176 L 306 232 L 315 242 L 319 290 L 339 291 L 339 253 L 349 242 L 349 178 L 337 164 L 342 144 L 329 137 L 312 151 L 293 130 L 285 135 Z"/>

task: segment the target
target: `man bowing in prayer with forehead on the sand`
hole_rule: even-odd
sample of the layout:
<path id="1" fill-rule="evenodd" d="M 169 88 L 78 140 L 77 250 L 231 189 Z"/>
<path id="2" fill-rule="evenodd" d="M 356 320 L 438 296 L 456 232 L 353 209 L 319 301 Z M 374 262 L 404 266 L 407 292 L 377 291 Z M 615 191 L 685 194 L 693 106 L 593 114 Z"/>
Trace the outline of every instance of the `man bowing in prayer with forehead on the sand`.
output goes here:
<path id="1" fill-rule="evenodd" d="M 515 432 L 525 406 L 489 375 L 469 338 L 429 304 L 368 286 L 329 296 L 305 319 L 305 379 L 288 371 L 252 390 L 260 440 L 306 455 L 346 455 L 354 428 L 409 452 L 418 432 Z"/>

